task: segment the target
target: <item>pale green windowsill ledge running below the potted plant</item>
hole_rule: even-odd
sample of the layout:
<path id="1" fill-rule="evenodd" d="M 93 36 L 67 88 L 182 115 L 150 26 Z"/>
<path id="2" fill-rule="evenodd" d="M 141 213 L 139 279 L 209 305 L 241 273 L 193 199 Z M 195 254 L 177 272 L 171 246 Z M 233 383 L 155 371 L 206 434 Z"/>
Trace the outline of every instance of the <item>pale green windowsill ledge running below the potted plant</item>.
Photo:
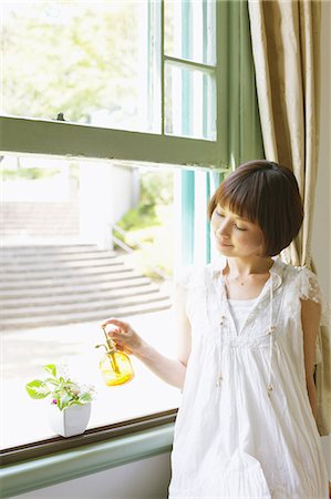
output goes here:
<path id="1" fill-rule="evenodd" d="M 93 432 L 87 432 L 86 437 L 89 438 L 91 434 Z M 43 457 L 9 464 L 1 470 L 1 497 L 17 496 L 168 452 L 172 449 L 173 435 L 174 422 L 166 422 L 130 435 L 108 437 L 104 441 L 81 445 L 59 452 L 50 450 Z M 81 441 L 84 442 L 83 439 Z"/>

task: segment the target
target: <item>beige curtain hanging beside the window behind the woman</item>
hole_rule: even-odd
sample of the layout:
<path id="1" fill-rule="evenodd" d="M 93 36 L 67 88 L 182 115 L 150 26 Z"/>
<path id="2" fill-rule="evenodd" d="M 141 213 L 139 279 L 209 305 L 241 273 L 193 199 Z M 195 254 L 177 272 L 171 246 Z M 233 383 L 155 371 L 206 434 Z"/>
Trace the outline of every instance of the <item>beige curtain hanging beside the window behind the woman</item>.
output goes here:
<path id="1" fill-rule="evenodd" d="M 303 200 L 302 230 L 282 256 L 293 265 L 310 266 L 319 145 L 321 4 L 317 0 L 248 0 L 248 8 L 265 155 L 292 169 Z M 320 435 L 331 432 L 329 338 L 322 328 L 316 358 Z"/>

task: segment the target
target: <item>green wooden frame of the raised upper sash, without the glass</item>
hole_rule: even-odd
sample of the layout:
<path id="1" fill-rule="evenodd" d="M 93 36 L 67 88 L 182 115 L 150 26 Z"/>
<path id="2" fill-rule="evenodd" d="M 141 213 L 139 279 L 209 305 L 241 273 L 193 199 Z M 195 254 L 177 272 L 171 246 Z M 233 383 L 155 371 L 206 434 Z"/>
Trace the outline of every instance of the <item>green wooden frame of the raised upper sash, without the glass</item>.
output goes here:
<path id="1" fill-rule="evenodd" d="M 151 2 L 152 0 L 149 0 Z M 209 169 L 228 167 L 226 154 L 227 78 L 221 81 L 220 68 L 226 68 L 226 22 L 228 2 L 216 1 L 216 67 L 176 59 L 183 67 L 215 70 L 216 79 L 216 141 L 166 135 L 164 133 L 164 69 L 175 60 L 164 53 L 164 0 L 155 2 L 158 11 L 152 12 L 161 33 L 158 63 L 161 69 L 159 112 L 161 133 L 131 132 L 56 120 L 0 115 L 1 154 L 42 154 L 81 159 L 127 160 Z M 153 9 L 152 9 L 153 10 Z"/>

